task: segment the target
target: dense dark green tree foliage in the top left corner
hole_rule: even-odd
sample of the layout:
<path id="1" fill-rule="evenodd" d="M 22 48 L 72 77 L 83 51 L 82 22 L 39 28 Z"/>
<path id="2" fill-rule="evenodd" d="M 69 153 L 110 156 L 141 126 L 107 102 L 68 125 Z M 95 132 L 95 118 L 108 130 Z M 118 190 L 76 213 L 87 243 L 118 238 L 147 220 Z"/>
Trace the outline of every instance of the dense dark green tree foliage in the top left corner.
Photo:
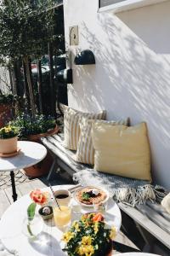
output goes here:
<path id="1" fill-rule="evenodd" d="M 2 0 L 0 58 L 39 57 L 54 40 L 54 0 Z"/>

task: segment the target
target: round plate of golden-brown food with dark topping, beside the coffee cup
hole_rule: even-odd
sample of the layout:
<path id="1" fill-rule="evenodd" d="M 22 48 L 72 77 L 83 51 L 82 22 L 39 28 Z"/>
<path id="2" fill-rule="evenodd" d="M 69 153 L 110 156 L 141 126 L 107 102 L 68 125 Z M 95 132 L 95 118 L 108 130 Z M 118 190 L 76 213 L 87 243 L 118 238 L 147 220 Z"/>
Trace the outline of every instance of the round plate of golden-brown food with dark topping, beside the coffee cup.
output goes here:
<path id="1" fill-rule="evenodd" d="M 77 189 L 73 196 L 83 207 L 94 207 L 95 205 L 105 204 L 110 197 L 106 189 L 100 189 L 94 186 Z"/>

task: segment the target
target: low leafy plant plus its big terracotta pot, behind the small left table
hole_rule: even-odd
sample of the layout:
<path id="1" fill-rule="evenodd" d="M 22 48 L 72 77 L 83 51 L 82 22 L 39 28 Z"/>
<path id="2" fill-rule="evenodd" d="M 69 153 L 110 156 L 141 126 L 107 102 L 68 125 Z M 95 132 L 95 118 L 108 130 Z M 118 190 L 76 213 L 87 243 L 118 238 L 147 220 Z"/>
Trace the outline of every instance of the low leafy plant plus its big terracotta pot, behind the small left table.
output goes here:
<path id="1" fill-rule="evenodd" d="M 31 115 L 22 113 L 11 122 L 20 130 L 20 139 L 30 140 L 41 143 L 41 137 L 54 135 L 59 131 L 55 119 L 51 116 L 37 114 L 35 118 Z M 26 175 L 29 177 L 40 177 L 48 173 L 52 165 L 52 156 L 48 153 L 46 158 L 35 166 L 25 168 Z"/>

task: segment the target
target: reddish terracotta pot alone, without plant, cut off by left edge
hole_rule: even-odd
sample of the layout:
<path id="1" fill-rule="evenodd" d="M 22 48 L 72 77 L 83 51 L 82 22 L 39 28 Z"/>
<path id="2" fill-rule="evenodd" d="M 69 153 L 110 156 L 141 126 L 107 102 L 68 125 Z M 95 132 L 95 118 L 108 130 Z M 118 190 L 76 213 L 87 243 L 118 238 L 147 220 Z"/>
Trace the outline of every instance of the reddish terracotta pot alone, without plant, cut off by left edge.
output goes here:
<path id="1" fill-rule="evenodd" d="M 12 106 L 8 104 L 0 104 L 0 128 L 2 128 L 9 119 L 11 119 Z"/>

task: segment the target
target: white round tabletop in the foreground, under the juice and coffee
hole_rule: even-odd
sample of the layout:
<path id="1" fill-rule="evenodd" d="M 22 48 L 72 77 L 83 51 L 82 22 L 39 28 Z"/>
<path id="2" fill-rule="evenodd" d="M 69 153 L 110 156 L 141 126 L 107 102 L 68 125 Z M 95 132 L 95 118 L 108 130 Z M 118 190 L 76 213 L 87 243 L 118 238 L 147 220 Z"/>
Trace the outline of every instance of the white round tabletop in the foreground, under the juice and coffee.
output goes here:
<path id="1" fill-rule="evenodd" d="M 69 189 L 71 185 L 54 186 L 54 191 L 57 189 Z M 50 189 L 46 188 L 44 190 Z M 73 204 L 76 204 L 74 199 L 71 199 Z M 4 247 L 9 252 L 18 252 L 19 256 L 64 256 L 65 253 L 61 248 L 64 244 L 61 242 L 63 232 L 56 228 L 54 221 L 48 220 L 44 222 L 41 236 L 37 240 L 29 240 L 22 232 L 23 219 L 26 218 L 26 210 L 30 205 L 31 199 L 29 195 L 21 197 L 15 201 L 7 211 L 4 212 L 0 221 L 0 240 L 3 242 Z M 81 213 L 92 211 L 91 208 L 86 207 L 81 210 Z M 38 209 L 37 209 L 38 210 Z M 75 219 L 75 216 L 73 216 Z M 80 215 L 77 219 L 80 218 Z M 114 224 L 117 230 L 120 230 L 122 217 L 119 207 L 116 202 L 111 198 L 108 201 L 108 207 L 105 214 L 105 220 L 110 224 Z"/>

